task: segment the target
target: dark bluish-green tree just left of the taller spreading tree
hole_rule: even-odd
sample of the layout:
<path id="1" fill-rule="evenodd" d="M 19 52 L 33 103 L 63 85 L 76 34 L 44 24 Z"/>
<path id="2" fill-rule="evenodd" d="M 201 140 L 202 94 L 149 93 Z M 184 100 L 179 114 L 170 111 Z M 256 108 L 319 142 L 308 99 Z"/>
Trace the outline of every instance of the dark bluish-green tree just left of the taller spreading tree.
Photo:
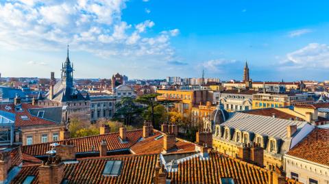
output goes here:
<path id="1" fill-rule="evenodd" d="M 132 124 L 132 120 L 137 119 L 143 112 L 138 105 L 134 103 L 134 98 L 125 96 L 121 98 L 120 103 L 116 104 L 117 111 L 114 113 L 114 120 L 123 120 L 125 124 Z"/>

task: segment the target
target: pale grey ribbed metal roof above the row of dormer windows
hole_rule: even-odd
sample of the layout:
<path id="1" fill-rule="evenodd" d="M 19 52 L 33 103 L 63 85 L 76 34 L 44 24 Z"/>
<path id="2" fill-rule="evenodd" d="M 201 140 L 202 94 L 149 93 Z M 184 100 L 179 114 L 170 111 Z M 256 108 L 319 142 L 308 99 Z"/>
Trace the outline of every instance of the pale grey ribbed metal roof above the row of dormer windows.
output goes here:
<path id="1" fill-rule="evenodd" d="M 284 140 L 287 138 L 288 125 L 296 124 L 297 129 L 301 129 L 306 123 L 304 121 L 284 120 L 269 116 L 234 112 L 230 114 L 230 118 L 226 122 L 223 122 L 221 126 L 228 126 L 260 135 L 268 135 L 269 137 L 278 137 Z"/>

